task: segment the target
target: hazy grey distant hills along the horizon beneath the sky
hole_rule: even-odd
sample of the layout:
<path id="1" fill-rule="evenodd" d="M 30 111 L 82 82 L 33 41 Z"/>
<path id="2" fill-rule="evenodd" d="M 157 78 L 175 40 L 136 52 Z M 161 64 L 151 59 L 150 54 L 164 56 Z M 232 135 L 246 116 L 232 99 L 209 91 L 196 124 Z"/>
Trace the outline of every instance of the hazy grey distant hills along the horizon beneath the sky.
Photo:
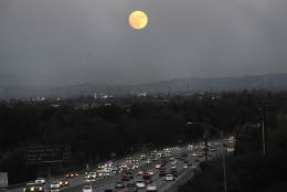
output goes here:
<path id="1" fill-rule="evenodd" d="M 139 85 L 79 84 L 73 86 L 0 86 L 0 98 L 74 97 L 97 94 L 138 94 L 174 92 L 232 92 L 242 89 L 287 89 L 287 74 L 248 75 L 241 77 L 176 78 Z"/>

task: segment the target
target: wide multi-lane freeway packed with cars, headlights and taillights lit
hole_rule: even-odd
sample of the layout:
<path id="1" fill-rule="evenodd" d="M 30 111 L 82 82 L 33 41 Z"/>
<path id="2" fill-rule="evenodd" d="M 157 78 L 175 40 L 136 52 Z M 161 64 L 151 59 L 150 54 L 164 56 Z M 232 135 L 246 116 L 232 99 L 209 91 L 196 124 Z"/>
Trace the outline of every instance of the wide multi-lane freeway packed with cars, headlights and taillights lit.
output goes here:
<path id="1" fill-rule="evenodd" d="M 206 149 L 206 150 L 205 150 Z M 205 154 L 206 152 L 206 154 Z M 11 192 L 155 192 L 167 191 L 201 161 L 222 152 L 219 141 L 170 147 L 107 161 L 79 172 L 67 172 L 60 179 L 36 178 Z"/>

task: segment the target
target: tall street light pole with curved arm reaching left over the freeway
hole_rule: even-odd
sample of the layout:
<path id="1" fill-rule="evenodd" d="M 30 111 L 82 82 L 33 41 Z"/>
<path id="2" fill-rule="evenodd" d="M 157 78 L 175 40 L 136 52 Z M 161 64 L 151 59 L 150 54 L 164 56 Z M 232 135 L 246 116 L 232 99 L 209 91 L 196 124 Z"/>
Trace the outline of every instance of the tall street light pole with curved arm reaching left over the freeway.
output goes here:
<path id="1" fill-rule="evenodd" d="M 225 163 L 225 146 L 224 146 L 224 131 L 210 125 L 206 122 L 187 122 L 187 125 L 203 125 L 206 126 L 213 130 L 216 130 L 219 132 L 221 132 L 221 139 L 222 139 L 222 143 L 223 143 L 223 152 L 222 152 L 222 160 L 223 160 L 223 184 L 224 184 L 224 192 L 227 192 L 227 180 L 226 180 L 226 163 Z M 205 146 L 206 148 L 206 146 Z M 206 150 L 206 149 L 205 149 Z"/>

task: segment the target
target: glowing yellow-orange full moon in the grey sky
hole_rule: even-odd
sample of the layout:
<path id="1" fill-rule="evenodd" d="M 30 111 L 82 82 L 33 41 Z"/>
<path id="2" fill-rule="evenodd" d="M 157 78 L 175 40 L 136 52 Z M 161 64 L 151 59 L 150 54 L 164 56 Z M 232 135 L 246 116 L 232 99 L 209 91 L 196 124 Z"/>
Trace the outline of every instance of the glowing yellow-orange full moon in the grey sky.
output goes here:
<path id="1" fill-rule="evenodd" d="M 144 29 L 148 24 L 148 15 L 142 11 L 134 11 L 129 15 L 129 24 L 136 30 Z"/>

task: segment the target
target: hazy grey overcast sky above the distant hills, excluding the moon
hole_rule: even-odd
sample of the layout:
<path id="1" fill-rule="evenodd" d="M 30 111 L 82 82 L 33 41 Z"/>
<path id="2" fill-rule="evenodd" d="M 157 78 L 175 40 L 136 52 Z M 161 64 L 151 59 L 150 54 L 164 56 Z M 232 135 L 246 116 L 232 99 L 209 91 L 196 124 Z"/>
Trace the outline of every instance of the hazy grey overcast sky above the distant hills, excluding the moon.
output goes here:
<path id="1" fill-rule="evenodd" d="M 286 0 L 0 0 L 1 84 L 286 72 Z"/>

